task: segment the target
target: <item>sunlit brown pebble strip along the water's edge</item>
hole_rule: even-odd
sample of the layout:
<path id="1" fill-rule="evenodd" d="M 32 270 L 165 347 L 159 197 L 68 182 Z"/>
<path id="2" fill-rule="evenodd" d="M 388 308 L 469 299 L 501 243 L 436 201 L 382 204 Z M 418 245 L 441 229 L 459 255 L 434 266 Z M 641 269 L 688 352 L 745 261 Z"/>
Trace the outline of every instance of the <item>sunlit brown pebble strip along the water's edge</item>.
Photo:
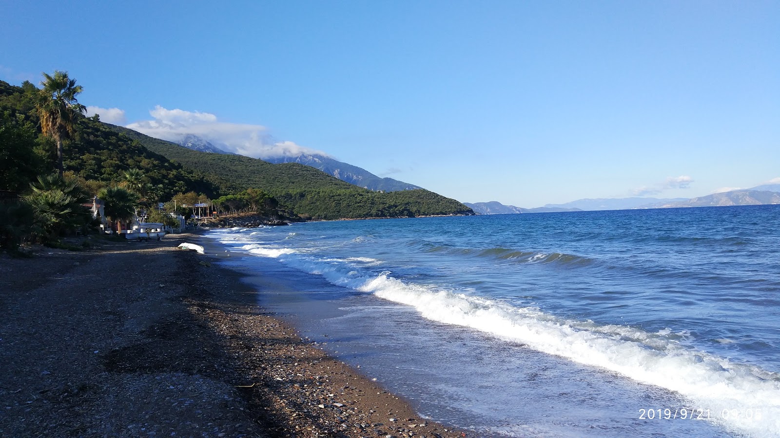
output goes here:
<path id="1" fill-rule="evenodd" d="M 212 260 L 225 260 L 223 252 L 228 253 L 227 256 L 231 258 L 248 257 L 225 250 L 225 245 L 205 237 L 205 232 L 208 230 L 200 229 L 197 234 L 200 245 L 206 249 L 206 256 Z M 344 433 L 343 436 L 474 436 L 472 431 L 420 418 L 403 397 L 385 390 L 381 384 L 365 376 L 359 369 L 329 356 L 317 347 L 314 341 L 303 337 L 295 327 L 275 317 L 275 313 L 265 312 L 258 304 L 256 294 L 272 291 L 274 285 L 271 281 L 258 281 L 258 276 L 264 275 L 262 272 L 254 272 L 254 281 L 250 282 L 246 281 L 249 275 L 240 270 L 217 265 L 212 265 L 211 269 L 215 267 L 228 271 L 232 284 L 240 284 L 240 288 L 254 294 L 251 306 L 259 309 L 272 325 L 285 334 L 284 344 L 276 346 L 276 355 L 284 355 L 286 360 L 278 365 L 280 371 L 275 373 L 271 387 L 282 392 L 282 398 L 288 403 L 297 398 L 299 409 L 306 411 L 307 407 L 300 405 L 301 397 L 303 396 L 303 400 L 316 399 L 316 403 L 308 403 L 309 407 L 314 406 L 312 413 L 325 424 L 347 424 L 346 428 L 338 426 L 338 431 Z M 224 271 L 222 275 L 225 275 Z M 252 323 L 247 322 L 247 325 L 250 324 Z M 301 358 L 305 359 L 300 360 Z M 351 433 L 349 429 L 352 429 Z"/>

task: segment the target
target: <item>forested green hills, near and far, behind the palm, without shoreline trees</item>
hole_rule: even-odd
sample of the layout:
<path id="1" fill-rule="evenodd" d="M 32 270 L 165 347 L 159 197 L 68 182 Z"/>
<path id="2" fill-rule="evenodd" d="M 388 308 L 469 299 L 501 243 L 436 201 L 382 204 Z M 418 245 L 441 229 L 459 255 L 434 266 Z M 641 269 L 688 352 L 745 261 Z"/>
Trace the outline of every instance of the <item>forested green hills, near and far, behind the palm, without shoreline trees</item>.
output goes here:
<path id="1" fill-rule="evenodd" d="M 35 108 L 37 87 L 0 81 L 0 190 L 23 193 L 38 175 L 55 169 L 56 147 L 41 135 Z M 62 148 L 66 177 L 90 193 L 114 187 L 138 171 L 144 198 L 165 202 L 177 193 L 210 199 L 246 189 L 270 193 L 282 207 L 304 218 L 414 217 L 472 214 L 470 208 L 427 190 L 372 192 L 303 164 L 270 164 L 240 155 L 207 154 L 140 132 L 108 125 L 97 116 L 76 116 Z M 141 176 L 142 175 L 142 176 Z"/>

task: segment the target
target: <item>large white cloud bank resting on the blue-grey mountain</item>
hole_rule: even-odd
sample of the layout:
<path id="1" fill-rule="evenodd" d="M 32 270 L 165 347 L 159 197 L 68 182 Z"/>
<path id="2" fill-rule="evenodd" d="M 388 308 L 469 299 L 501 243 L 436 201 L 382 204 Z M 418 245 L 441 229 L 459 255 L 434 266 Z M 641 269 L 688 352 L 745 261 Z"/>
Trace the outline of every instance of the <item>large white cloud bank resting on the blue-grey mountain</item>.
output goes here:
<path id="1" fill-rule="evenodd" d="M 161 140 L 176 142 L 186 134 L 199 136 L 216 147 L 254 158 L 295 157 L 300 154 L 328 156 L 320 150 L 300 146 L 291 141 L 278 141 L 262 125 L 220 122 L 208 112 L 163 108 L 149 111 L 154 120 L 142 120 L 127 125 Z"/>

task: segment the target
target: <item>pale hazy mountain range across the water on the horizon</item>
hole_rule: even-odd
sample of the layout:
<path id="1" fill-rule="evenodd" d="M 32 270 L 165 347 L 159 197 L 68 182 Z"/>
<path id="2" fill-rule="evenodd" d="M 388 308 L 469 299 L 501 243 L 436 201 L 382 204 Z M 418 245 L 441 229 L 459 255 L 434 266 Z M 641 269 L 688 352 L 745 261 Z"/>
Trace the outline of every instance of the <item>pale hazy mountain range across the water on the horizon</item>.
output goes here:
<path id="1" fill-rule="evenodd" d="M 757 185 L 752 189 L 732 190 L 697 198 L 599 198 L 570 203 L 547 204 L 538 208 L 489 203 L 464 203 L 476 214 L 552 213 L 557 211 L 638 210 L 645 208 L 725 207 L 736 205 L 780 204 L 780 184 Z"/>

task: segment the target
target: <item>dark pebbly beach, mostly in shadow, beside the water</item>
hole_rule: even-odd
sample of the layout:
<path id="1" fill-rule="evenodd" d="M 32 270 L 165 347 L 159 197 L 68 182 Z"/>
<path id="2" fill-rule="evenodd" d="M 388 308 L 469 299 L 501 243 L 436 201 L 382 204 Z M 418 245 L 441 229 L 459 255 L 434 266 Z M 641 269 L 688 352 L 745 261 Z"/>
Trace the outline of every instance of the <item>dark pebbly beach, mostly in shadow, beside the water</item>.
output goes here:
<path id="1" fill-rule="evenodd" d="M 0 255 L 0 436 L 465 436 L 176 249 L 199 241 Z"/>

